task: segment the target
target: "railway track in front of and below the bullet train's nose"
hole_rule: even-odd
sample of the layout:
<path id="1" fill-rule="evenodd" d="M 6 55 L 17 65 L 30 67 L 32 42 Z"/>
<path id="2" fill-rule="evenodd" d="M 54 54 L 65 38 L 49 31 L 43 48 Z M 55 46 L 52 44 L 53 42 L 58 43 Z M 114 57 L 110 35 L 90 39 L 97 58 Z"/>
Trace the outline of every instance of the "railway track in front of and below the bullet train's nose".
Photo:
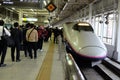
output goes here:
<path id="1" fill-rule="evenodd" d="M 120 80 L 120 64 L 109 58 L 94 67 L 78 66 L 86 80 Z"/>

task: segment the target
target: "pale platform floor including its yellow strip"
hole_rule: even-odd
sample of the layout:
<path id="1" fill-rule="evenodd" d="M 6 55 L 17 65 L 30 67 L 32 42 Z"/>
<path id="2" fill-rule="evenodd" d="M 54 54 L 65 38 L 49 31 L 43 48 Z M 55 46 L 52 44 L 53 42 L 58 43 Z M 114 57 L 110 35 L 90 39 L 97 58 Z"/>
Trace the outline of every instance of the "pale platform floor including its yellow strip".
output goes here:
<path id="1" fill-rule="evenodd" d="M 37 53 L 37 59 L 30 59 L 21 51 L 21 61 L 12 62 L 8 48 L 4 62 L 7 66 L 0 67 L 0 80 L 65 80 L 58 44 L 46 42 L 43 51 Z"/>

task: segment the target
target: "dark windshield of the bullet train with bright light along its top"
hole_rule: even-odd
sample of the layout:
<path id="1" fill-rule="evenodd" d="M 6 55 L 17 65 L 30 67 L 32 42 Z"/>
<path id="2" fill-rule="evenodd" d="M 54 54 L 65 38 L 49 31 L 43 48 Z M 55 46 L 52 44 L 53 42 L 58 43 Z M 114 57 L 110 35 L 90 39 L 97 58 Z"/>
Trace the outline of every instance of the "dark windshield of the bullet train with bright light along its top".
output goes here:
<path id="1" fill-rule="evenodd" d="M 75 24 L 73 26 L 73 29 L 77 30 L 77 31 L 83 30 L 83 31 L 92 31 L 93 32 L 93 28 L 88 23 L 78 23 L 78 24 Z"/>

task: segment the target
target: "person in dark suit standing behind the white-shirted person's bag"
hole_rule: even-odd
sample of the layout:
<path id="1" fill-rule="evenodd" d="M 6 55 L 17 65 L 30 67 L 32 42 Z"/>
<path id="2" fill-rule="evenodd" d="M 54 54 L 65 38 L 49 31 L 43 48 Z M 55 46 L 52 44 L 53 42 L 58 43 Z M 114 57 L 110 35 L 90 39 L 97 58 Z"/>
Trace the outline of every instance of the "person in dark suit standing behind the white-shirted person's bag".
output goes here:
<path id="1" fill-rule="evenodd" d="M 19 23 L 15 22 L 14 23 L 14 28 L 11 29 L 11 37 L 13 38 L 15 45 L 13 47 L 11 47 L 11 58 L 12 61 L 15 61 L 15 49 L 16 49 L 16 62 L 21 61 L 20 60 L 20 45 L 21 45 L 21 41 L 22 41 L 22 32 L 19 29 Z"/>

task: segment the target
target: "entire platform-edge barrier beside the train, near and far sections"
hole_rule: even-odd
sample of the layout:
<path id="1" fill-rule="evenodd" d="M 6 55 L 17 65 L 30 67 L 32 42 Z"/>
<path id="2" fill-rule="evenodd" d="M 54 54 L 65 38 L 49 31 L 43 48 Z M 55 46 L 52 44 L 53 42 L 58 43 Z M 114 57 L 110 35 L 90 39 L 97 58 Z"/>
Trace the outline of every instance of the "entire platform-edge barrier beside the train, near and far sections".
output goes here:
<path id="1" fill-rule="evenodd" d="M 65 80 L 85 80 L 72 55 L 66 53 L 65 45 L 60 36 L 58 37 L 58 53 L 59 60 L 61 60 L 63 64 Z"/>

